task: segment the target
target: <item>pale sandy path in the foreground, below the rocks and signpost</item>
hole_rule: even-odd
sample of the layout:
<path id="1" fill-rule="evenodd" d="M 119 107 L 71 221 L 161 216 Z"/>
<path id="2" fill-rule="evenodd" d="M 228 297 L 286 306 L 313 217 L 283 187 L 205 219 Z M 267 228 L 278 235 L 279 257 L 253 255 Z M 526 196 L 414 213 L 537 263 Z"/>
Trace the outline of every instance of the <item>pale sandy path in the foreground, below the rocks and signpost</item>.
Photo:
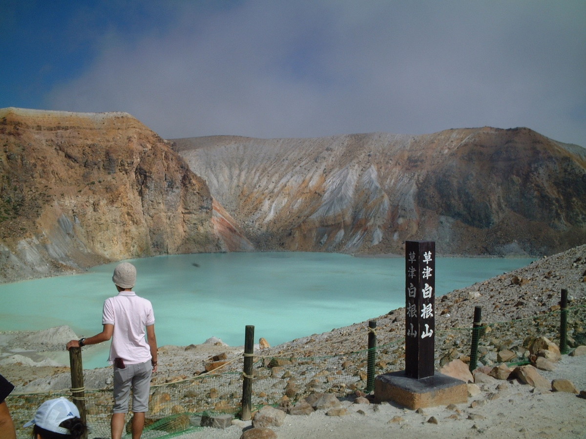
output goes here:
<path id="1" fill-rule="evenodd" d="M 571 380 L 586 390 L 586 356 L 568 356 L 556 371 L 539 371 L 546 378 Z M 336 438 L 586 438 L 586 399 L 572 393 L 544 392 L 517 380 L 494 380 L 467 403 L 428 407 L 423 413 L 394 403 L 353 404 L 346 416 L 327 416 L 318 410 L 309 416 L 287 415 L 280 427 L 271 427 L 278 439 Z M 473 402 L 478 406 L 471 408 Z M 362 410 L 363 413 L 359 413 Z M 437 424 L 428 422 L 432 417 Z M 224 430 L 206 427 L 178 436 L 180 439 L 240 438 L 250 421 Z"/>

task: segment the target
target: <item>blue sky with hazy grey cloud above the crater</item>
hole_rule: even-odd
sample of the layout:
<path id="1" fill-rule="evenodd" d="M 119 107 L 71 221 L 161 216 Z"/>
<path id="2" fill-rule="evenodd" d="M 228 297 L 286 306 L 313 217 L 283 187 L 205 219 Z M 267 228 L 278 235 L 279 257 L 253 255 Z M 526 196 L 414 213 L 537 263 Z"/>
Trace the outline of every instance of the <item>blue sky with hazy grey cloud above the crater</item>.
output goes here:
<path id="1" fill-rule="evenodd" d="M 0 108 L 166 139 L 526 126 L 586 147 L 585 0 L 0 0 Z"/>

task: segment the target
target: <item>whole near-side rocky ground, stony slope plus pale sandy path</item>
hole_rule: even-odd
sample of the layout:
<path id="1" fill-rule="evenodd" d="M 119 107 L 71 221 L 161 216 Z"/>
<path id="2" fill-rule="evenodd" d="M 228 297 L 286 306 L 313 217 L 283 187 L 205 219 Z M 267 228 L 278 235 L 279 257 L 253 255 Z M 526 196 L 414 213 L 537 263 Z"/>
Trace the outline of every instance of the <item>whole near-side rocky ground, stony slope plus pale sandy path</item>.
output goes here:
<path id="1" fill-rule="evenodd" d="M 438 337 L 435 358 L 438 369 L 454 358 L 463 358 L 469 354 L 471 332 L 466 328 L 472 325 L 475 306 L 482 307 L 483 323 L 500 323 L 486 328 L 480 343 L 479 352 L 482 355 L 479 359 L 491 371 L 492 368 L 500 371 L 502 360 L 499 355 L 503 351 L 510 350 L 519 358 L 529 359 L 527 342 L 533 337 L 546 336 L 558 342 L 559 315 L 551 311 L 559 308 L 561 289 L 567 289 L 572 298 L 568 335 L 573 350 L 584 344 L 586 334 L 586 245 L 541 258 L 521 269 L 442 296 L 436 301 L 442 309 L 439 313 L 438 308 L 436 315 Z M 405 333 L 404 314 L 404 308 L 400 308 L 376 318 L 377 375 L 404 367 L 404 344 L 401 341 Z M 543 324 L 548 321 L 544 317 L 549 314 L 552 314 L 549 323 L 553 323 L 553 326 Z M 511 325 L 505 324 L 511 319 L 522 320 Z M 515 437 L 523 438 L 584 436 L 584 399 L 568 393 L 568 390 L 551 392 L 549 387 L 544 388 L 536 383 L 522 384 L 521 379 L 513 376 L 503 378 L 498 375 L 498 379 L 495 375 L 486 376 L 486 368 L 480 369 L 484 373 L 475 374 L 474 384 L 468 385 L 468 402 L 457 404 L 457 407 L 451 404 L 415 411 L 397 404 L 350 404 L 356 395 L 363 395 L 360 391 L 366 386 L 367 325 L 368 322 L 364 321 L 323 334 L 308 335 L 272 348 L 255 348 L 257 359 L 265 361 L 255 362 L 253 369 L 254 407 L 257 407 L 257 403 L 260 406 L 280 402 L 287 404 L 291 400 L 296 402 L 297 395 L 291 393 L 294 391 L 346 395 L 341 399 L 347 402 L 347 413 L 333 415 L 328 413 L 328 407 L 325 410 L 288 415 L 287 422 L 275 428 L 278 437 L 352 438 L 365 431 L 369 437 L 407 438 L 427 437 L 430 434 L 476 437 L 483 432 L 490 432 L 490 437 L 508 438 L 511 431 L 516 432 Z M 54 352 L 47 352 L 52 349 L 61 349 L 63 352 L 63 345 L 72 337 L 76 336 L 67 327 L 41 332 L 1 333 L 0 365 L 3 375 L 16 385 L 15 393 L 68 389 L 71 383 L 68 368 L 52 367 L 40 359 L 46 358 L 42 354 L 52 358 Z M 392 343 L 393 340 L 398 342 Z M 242 370 L 242 352 L 243 347 L 227 347 L 214 338 L 203 345 L 160 347 L 159 370 L 153 382 L 156 385 L 173 385 L 154 390 L 151 412 L 157 407 L 159 410 L 165 408 L 168 410 L 166 413 L 177 413 L 177 407 L 180 406 L 198 413 L 204 407 L 220 412 L 229 412 L 237 407 L 242 383 L 234 377 L 239 376 L 237 373 Z M 28 355 L 28 358 L 24 358 L 24 355 Z M 192 382 L 190 378 L 199 375 L 206 364 L 214 361 L 214 356 L 232 360 L 227 367 L 231 367 L 234 373 L 226 374 L 223 381 L 219 377 L 217 380 L 198 380 L 193 382 L 193 386 L 189 385 Z M 292 357 L 294 361 L 291 361 Z M 278 362 L 277 359 L 282 361 Z M 537 364 L 537 360 L 532 361 Z M 585 355 L 563 355 L 560 361 L 552 362 L 553 368 L 539 370 L 539 375 L 548 386 L 553 388 L 552 380 L 570 380 L 575 389 L 586 391 Z M 36 366 L 31 365 L 35 363 Z M 465 369 L 468 370 L 467 366 Z M 110 368 L 85 371 L 84 379 L 86 389 L 111 389 L 112 372 Z M 86 395 L 100 397 L 93 392 Z M 291 396 L 291 400 L 284 395 Z M 32 411 L 38 406 L 28 403 L 29 397 L 9 399 L 11 412 L 19 420 L 18 425 L 30 419 Z M 103 414 L 101 425 L 106 432 L 100 435 L 103 437 L 108 431 L 111 393 L 105 392 L 101 398 L 103 402 L 98 406 L 98 413 Z M 354 402 L 357 402 L 356 399 Z M 26 410 L 21 409 L 21 406 Z M 359 408 L 362 413 L 356 413 Z M 435 421 L 430 421 L 430 417 L 434 417 Z M 96 421 L 94 427 L 98 425 Z M 185 438 L 240 437 L 241 429 L 248 426 L 250 422 L 243 425 L 234 423 L 224 430 L 207 428 L 185 435 Z"/>

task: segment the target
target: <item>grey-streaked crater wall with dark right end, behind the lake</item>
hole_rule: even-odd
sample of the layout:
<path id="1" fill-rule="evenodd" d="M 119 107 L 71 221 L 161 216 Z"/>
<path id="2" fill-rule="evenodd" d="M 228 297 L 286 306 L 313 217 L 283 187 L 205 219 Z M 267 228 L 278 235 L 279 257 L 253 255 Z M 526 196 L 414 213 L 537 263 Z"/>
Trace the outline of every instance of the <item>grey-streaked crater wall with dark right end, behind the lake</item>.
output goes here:
<path id="1" fill-rule="evenodd" d="M 526 128 L 173 139 L 258 249 L 551 254 L 586 241 L 584 149 Z"/>

